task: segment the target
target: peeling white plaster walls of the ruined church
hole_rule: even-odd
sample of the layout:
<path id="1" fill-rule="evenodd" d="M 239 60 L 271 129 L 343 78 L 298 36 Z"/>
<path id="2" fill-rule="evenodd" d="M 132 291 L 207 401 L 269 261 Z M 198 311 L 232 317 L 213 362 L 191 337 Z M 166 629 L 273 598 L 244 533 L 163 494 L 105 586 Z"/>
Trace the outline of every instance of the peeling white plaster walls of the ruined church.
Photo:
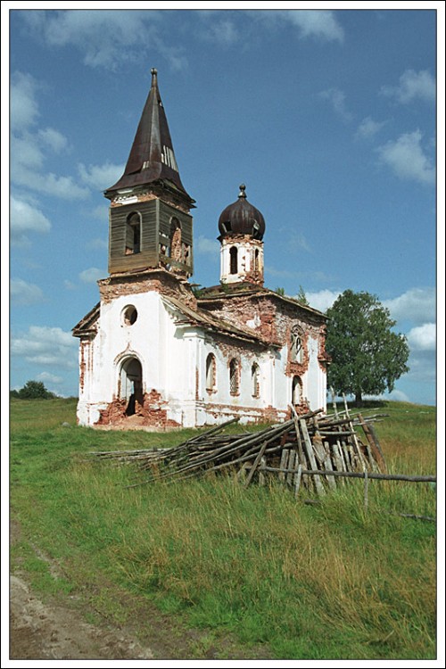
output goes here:
<path id="1" fill-rule="evenodd" d="M 126 320 L 136 310 L 133 324 Z M 134 312 L 133 312 L 134 313 Z M 190 325 L 184 314 L 157 291 L 121 295 L 103 302 L 94 338 L 85 339 L 79 363 L 84 380 L 78 402 L 78 423 L 95 425 L 101 411 L 116 399 L 129 400 L 134 382 L 126 368 L 136 359 L 141 366 L 141 392 L 154 391 L 168 421 L 182 426 L 212 425 L 230 417 L 242 423 L 268 416 L 285 418 L 293 401 L 293 377 L 286 375 L 287 346 L 225 344 L 202 326 Z M 326 406 L 326 375 L 318 355 L 318 339 L 309 337 L 309 364 L 301 376 L 301 392 L 310 409 Z M 258 350 L 256 350 L 256 348 Z M 215 381 L 207 383 L 206 362 L 215 358 Z M 239 366 L 237 392 L 230 389 L 230 360 Z M 132 363 L 134 368 L 137 364 Z M 258 396 L 255 396 L 252 366 L 258 366 Z"/>

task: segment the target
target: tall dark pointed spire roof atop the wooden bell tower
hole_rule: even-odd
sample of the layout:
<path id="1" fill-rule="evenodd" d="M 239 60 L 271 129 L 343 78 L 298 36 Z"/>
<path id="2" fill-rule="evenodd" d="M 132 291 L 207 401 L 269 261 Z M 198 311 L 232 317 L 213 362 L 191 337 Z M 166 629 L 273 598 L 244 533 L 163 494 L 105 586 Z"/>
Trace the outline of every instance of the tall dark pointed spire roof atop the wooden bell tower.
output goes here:
<path id="1" fill-rule="evenodd" d="M 105 195 L 121 188 L 145 186 L 154 181 L 165 180 L 176 186 L 190 202 L 194 202 L 179 178 L 166 113 L 158 89 L 157 70 L 153 68 L 151 71 L 152 87 L 136 130 L 126 169 L 120 180 L 107 188 Z"/>

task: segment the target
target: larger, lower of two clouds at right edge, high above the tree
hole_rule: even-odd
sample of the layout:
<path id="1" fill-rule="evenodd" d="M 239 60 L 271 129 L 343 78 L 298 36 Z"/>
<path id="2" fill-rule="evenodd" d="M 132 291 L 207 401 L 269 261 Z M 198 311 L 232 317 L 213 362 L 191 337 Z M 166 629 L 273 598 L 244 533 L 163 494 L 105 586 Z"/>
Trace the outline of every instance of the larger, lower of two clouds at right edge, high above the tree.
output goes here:
<path id="1" fill-rule="evenodd" d="M 379 146 L 376 151 L 381 161 L 388 165 L 397 177 L 422 184 L 434 184 L 435 169 L 423 151 L 421 139 L 421 132 L 415 130 Z"/>

